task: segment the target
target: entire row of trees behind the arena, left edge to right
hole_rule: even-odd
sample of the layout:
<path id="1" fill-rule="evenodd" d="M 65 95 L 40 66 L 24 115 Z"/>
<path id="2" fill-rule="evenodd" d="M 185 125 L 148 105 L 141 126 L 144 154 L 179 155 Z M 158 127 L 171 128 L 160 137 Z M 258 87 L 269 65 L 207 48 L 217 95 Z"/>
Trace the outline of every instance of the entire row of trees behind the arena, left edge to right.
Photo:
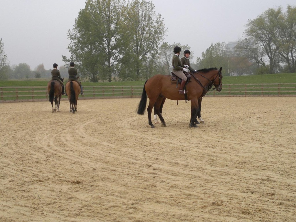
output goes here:
<path id="1" fill-rule="evenodd" d="M 225 42 L 212 43 L 201 57 L 191 60 L 194 69 L 223 67 L 223 75 L 296 72 L 296 7 L 270 8 L 248 20 L 244 37 L 234 52 Z M 70 58 L 84 80 L 134 81 L 155 74 L 170 74 L 173 48 L 188 45 L 163 42 L 167 33 L 163 18 L 151 1 L 87 0 L 72 30 L 68 31 Z M 181 53 L 180 57 L 183 56 Z M 67 67 L 59 70 L 67 76 Z M 9 66 L 0 41 L 0 80 L 7 78 L 50 78 L 51 70 L 40 64 L 34 71 L 21 63 Z"/>

